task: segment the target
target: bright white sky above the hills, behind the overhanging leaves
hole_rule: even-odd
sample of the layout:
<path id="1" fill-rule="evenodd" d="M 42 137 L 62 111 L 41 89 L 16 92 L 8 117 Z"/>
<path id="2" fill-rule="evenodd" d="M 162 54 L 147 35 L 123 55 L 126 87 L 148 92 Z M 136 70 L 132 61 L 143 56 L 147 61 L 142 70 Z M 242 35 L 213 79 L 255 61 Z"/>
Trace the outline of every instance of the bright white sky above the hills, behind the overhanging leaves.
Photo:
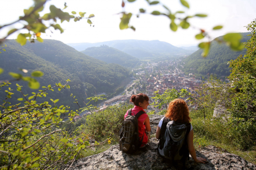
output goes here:
<path id="1" fill-rule="evenodd" d="M 134 3 L 128 3 L 124 0 L 124 8 L 121 7 L 122 0 L 51 0 L 47 3 L 46 10 L 43 13 L 49 12 L 51 4 L 63 9 L 65 2 L 68 6 L 64 10 L 65 12 L 87 12 L 86 17 L 89 14 L 94 14 L 95 17 L 91 20 L 95 27 L 90 27 L 86 19 L 81 19 L 77 22 L 73 20 L 70 22 L 64 21 L 61 24 L 61 27 L 65 29 L 64 33 L 60 34 L 59 31 L 52 29 L 53 34 L 47 32 L 41 35 L 42 38 L 56 39 L 64 43 L 103 42 L 124 39 L 160 40 L 175 46 L 188 46 L 200 43 L 199 40 L 195 39 L 195 35 L 200 31 L 195 28 L 209 31 L 210 36 L 215 38 L 228 32 L 247 32 L 244 26 L 256 18 L 255 0 L 187 0 L 190 5 L 189 9 L 183 7 L 179 0 L 163 0 L 161 3 L 169 7 L 172 12 L 183 10 L 185 11 L 185 16 L 197 13 L 208 14 L 206 18 L 197 17 L 188 20 L 190 25 L 195 28 L 187 30 L 179 28 L 177 32 L 170 30 L 170 20 L 167 17 L 150 14 L 140 14 L 139 18 L 136 15 L 132 16 L 130 24 L 136 28 L 135 32 L 132 29 L 120 30 L 120 15 L 118 13 L 123 10 L 133 14 L 138 14 L 140 8 L 146 9 L 148 13 L 154 10 L 166 12 L 161 5 L 149 6 L 145 0 L 137 0 Z M 23 10 L 28 9 L 32 4 L 32 0 L 0 0 L 0 26 L 17 20 L 19 16 L 23 16 Z M 217 25 L 222 25 L 224 28 L 212 31 L 212 28 Z M 11 28 L 15 27 L 20 27 L 20 25 L 15 25 Z M 0 30 L 0 38 L 4 37 L 7 31 L 7 29 Z M 8 38 L 13 39 L 16 37 L 17 34 Z"/>

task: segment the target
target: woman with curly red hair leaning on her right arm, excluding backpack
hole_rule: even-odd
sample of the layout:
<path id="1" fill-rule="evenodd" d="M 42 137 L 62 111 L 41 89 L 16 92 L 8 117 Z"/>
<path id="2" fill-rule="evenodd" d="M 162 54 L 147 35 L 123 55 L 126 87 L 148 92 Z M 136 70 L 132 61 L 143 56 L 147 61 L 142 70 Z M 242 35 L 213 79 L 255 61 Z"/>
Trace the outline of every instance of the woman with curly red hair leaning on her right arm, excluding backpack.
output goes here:
<path id="1" fill-rule="evenodd" d="M 164 120 L 164 118 L 165 118 L 165 120 Z M 185 134 L 185 140 L 184 140 L 185 144 L 187 144 L 188 152 L 190 153 L 191 157 L 195 160 L 195 162 L 204 163 L 204 161 L 206 161 L 206 159 L 197 157 L 197 155 L 196 155 L 196 151 L 195 151 L 194 144 L 193 144 L 194 131 L 193 131 L 192 125 L 189 123 L 191 121 L 191 119 L 189 117 L 189 110 L 188 110 L 187 104 L 184 100 L 175 99 L 169 103 L 169 107 L 168 107 L 166 114 L 160 120 L 160 122 L 157 126 L 156 138 L 161 139 L 164 136 L 164 134 L 163 134 L 164 132 L 162 131 L 162 133 L 161 133 L 161 127 L 164 124 L 166 127 L 166 124 L 172 120 L 174 121 L 174 124 L 181 125 L 181 126 L 184 125 L 185 127 L 190 127 L 185 132 L 186 134 Z M 159 148 L 158 148 L 158 151 L 161 156 L 164 156 L 163 153 L 161 153 L 161 149 L 159 150 Z"/>

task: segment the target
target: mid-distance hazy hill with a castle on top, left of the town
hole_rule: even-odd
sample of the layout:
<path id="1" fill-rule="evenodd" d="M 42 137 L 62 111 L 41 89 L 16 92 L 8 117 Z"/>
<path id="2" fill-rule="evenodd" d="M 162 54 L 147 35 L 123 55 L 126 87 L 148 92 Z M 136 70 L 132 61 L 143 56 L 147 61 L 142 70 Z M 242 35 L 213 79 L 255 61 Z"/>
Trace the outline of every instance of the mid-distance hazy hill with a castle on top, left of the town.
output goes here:
<path id="1" fill-rule="evenodd" d="M 106 63 L 116 63 L 124 67 L 135 67 L 140 64 L 138 58 L 135 58 L 129 54 L 121 52 L 116 48 L 109 47 L 108 45 L 101 45 L 99 47 L 89 47 L 81 53 L 99 59 Z"/>

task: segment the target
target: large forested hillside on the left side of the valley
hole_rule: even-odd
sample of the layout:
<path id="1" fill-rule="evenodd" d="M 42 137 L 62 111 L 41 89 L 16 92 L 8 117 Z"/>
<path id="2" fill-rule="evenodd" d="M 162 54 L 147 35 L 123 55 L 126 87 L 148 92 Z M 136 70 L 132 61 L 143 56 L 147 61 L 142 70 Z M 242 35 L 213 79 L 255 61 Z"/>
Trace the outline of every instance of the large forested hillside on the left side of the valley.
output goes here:
<path id="1" fill-rule="evenodd" d="M 81 105 L 82 99 L 86 100 L 95 93 L 113 93 L 120 82 L 129 77 L 129 71 L 126 68 L 84 55 L 60 41 L 44 40 L 43 43 L 27 43 L 20 46 L 15 40 L 7 40 L 6 45 L 6 52 L 1 54 L 0 67 L 4 68 L 1 80 L 12 80 L 8 72 L 30 76 L 35 70 L 44 72 L 44 76 L 37 78 L 40 86 L 65 84 L 66 80 L 70 79 L 70 89 L 55 90 L 48 95 L 50 99 L 61 99 L 59 104 L 62 105 L 73 104 L 70 93 L 76 96 Z M 27 69 L 28 73 L 25 74 L 18 68 Z M 12 83 L 11 88 L 16 89 L 16 83 L 24 86 L 24 93 L 31 94 L 32 90 L 24 81 Z M 4 93 L 3 90 L 0 94 L 2 100 L 4 100 Z M 17 92 L 15 95 L 21 96 Z M 17 98 L 19 96 L 14 96 L 12 99 Z M 49 101 L 49 99 L 42 100 Z"/>

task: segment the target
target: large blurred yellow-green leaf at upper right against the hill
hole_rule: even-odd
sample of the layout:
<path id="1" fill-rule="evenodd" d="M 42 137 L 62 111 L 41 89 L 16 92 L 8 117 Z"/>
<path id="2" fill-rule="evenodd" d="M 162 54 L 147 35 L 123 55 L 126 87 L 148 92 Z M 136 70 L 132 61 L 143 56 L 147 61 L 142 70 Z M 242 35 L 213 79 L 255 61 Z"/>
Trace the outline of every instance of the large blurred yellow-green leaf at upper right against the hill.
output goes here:
<path id="1" fill-rule="evenodd" d="M 240 33 L 228 33 L 223 36 L 223 39 L 227 42 L 227 45 L 235 51 L 243 50 L 244 45 L 241 42 L 242 38 L 243 36 Z"/>

